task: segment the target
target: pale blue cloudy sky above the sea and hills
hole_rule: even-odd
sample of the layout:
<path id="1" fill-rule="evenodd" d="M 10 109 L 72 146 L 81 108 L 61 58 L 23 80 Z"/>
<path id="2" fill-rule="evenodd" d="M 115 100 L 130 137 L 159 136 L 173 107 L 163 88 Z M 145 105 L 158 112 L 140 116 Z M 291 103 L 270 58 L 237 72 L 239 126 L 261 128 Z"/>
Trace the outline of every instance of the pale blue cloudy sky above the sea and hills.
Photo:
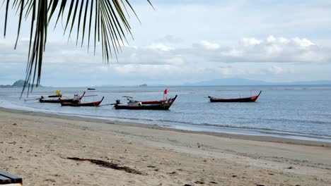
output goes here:
<path id="1" fill-rule="evenodd" d="M 54 87 L 180 85 L 223 78 L 267 82 L 331 80 L 331 1 L 132 1 L 134 39 L 105 63 L 49 29 L 41 84 Z M 13 49 L 18 16 L 0 7 L 0 85 L 25 78 L 29 24 Z M 71 37 L 75 38 L 75 37 Z"/>

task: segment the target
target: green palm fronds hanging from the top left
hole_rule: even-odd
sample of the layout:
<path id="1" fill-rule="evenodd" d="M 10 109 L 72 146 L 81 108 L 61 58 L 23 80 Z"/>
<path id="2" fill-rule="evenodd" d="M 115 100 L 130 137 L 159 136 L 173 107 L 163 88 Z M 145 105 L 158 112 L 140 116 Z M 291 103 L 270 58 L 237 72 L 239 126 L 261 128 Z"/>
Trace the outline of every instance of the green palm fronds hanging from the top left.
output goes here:
<path id="1" fill-rule="evenodd" d="M 151 4 L 150 0 L 146 1 Z M 87 40 L 89 48 L 92 40 L 94 54 L 95 46 L 100 42 L 103 60 L 109 61 L 112 56 L 117 57 L 121 44 L 127 42 L 126 35 L 132 35 L 127 20 L 129 15 L 127 7 L 137 16 L 129 0 L 4 0 L 4 4 L 6 4 L 5 37 L 9 6 L 11 5 L 19 13 L 16 44 L 23 16 L 25 19 L 30 19 L 30 45 L 25 85 L 40 83 L 42 56 L 51 20 L 55 19 L 56 26 L 61 18 L 62 23 L 65 23 L 64 32 L 69 32 L 69 37 L 71 32 L 76 30 L 76 44 L 79 44 L 81 38 L 81 46 Z M 33 86 L 28 86 L 28 92 L 32 88 Z"/>

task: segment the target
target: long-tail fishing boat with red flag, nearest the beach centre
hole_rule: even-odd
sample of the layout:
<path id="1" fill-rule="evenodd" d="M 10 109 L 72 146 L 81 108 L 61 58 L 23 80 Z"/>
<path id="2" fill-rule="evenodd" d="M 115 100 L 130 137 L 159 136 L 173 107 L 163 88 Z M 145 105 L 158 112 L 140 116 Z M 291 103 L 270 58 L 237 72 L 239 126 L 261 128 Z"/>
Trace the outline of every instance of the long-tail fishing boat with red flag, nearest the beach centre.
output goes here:
<path id="1" fill-rule="evenodd" d="M 120 101 L 117 100 L 115 104 L 115 109 L 129 109 L 129 110 L 168 110 L 173 104 L 175 99 L 178 97 L 176 95 L 174 98 L 170 98 L 161 104 L 141 104 L 139 101 L 129 101 L 127 105 L 120 105 Z"/>

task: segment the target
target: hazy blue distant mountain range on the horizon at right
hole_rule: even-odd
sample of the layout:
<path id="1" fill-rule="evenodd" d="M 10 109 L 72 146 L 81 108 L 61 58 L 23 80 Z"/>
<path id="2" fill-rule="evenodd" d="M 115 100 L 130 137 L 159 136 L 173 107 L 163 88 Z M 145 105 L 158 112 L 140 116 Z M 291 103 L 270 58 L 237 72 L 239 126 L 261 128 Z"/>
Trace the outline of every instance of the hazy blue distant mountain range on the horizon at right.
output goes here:
<path id="1" fill-rule="evenodd" d="M 265 82 L 243 78 L 226 78 L 202 82 L 185 83 L 182 86 L 243 86 L 243 85 L 331 85 L 331 80 L 301 81 L 301 82 Z"/>

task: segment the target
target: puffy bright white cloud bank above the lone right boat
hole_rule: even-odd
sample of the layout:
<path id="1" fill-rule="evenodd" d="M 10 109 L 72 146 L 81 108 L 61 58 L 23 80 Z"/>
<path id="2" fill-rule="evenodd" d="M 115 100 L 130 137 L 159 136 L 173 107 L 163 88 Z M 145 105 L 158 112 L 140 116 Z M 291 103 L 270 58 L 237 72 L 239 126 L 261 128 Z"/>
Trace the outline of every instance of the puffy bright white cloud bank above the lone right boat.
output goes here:
<path id="1" fill-rule="evenodd" d="M 237 46 L 220 46 L 209 51 L 191 51 L 209 61 L 220 62 L 278 62 L 330 63 L 331 49 L 318 46 L 306 38 L 274 37 L 266 39 L 243 38 Z M 194 46 L 198 46 L 195 44 Z M 194 49 L 194 48 L 193 48 Z"/>

